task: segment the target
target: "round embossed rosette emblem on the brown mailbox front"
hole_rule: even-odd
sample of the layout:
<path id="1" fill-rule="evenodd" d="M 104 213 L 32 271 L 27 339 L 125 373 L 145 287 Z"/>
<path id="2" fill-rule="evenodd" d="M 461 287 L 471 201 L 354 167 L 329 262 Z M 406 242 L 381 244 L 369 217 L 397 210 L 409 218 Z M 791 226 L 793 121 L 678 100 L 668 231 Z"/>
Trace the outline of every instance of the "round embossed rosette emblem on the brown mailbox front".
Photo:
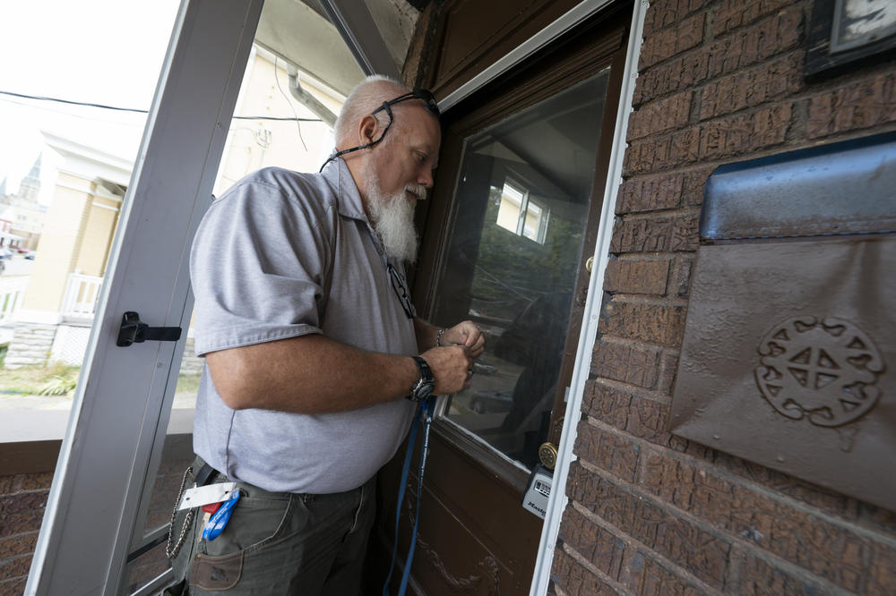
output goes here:
<path id="1" fill-rule="evenodd" d="M 875 386 L 884 367 L 881 353 L 847 320 L 783 321 L 762 337 L 759 354 L 756 385 L 788 418 L 841 426 L 863 416 L 881 396 Z"/>

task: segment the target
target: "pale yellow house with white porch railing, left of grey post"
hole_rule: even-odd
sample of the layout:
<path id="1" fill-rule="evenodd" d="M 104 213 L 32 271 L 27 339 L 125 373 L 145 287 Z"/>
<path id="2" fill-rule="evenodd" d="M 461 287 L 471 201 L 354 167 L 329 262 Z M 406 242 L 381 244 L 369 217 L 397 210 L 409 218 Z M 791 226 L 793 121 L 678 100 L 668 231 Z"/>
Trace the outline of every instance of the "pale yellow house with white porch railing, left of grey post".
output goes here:
<path id="1" fill-rule="evenodd" d="M 4 366 L 80 364 L 133 163 L 44 133 L 60 157 Z"/>

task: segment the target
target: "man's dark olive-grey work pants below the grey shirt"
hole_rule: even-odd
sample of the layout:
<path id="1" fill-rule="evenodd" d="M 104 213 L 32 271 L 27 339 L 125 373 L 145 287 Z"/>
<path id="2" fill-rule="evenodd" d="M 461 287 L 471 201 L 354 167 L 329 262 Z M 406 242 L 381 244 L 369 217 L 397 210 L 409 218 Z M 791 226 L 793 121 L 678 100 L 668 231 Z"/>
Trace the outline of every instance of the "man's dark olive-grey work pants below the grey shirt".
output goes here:
<path id="1" fill-rule="evenodd" d="M 202 466 L 197 458 L 194 471 Z M 218 473 L 212 482 L 228 479 Z M 359 593 L 367 538 L 374 523 L 375 478 L 358 489 L 327 495 L 272 493 L 237 482 L 241 496 L 224 531 L 202 540 L 205 515 L 173 560 L 177 594 Z M 174 536 L 185 511 L 178 512 Z"/>

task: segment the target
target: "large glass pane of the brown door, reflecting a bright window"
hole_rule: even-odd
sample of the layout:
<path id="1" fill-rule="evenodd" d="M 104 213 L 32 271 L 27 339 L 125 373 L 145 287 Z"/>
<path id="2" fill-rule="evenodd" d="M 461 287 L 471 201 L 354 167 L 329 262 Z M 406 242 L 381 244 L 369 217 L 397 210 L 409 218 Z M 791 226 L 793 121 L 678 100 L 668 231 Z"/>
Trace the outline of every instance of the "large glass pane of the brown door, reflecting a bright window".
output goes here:
<path id="1" fill-rule="evenodd" d="M 465 140 L 433 320 L 486 353 L 447 418 L 528 467 L 557 395 L 608 70 Z"/>

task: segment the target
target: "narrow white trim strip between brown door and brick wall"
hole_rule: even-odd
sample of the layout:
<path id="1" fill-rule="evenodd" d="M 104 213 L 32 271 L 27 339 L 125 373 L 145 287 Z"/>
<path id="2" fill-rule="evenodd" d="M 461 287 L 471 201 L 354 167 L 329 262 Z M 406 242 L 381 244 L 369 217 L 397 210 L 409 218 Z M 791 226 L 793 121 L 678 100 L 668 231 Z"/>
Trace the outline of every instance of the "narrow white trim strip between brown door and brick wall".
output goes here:
<path id="1" fill-rule="evenodd" d="M 566 479 L 569 465 L 574 461 L 576 428 L 581 418 L 582 395 L 590 370 L 591 352 L 598 334 L 600 305 L 603 302 L 604 273 L 609 260 L 610 240 L 613 237 L 613 226 L 616 213 L 616 195 L 622 183 L 622 166 L 625 157 L 625 135 L 628 131 L 628 117 L 632 112 L 634 81 L 638 77 L 638 58 L 641 55 L 642 35 L 644 30 L 644 14 L 647 12 L 648 0 L 636 0 L 632 13 L 632 28 L 625 53 L 625 71 L 623 72 L 622 89 L 619 93 L 619 107 L 616 111 L 616 128 L 613 132 L 613 149 L 610 152 L 610 163 L 607 171 L 607 183 L 604 186 L 604 202 L 600 212 L 597 242 L 594 246 L 594 268 L 588 285 L 588 297 L 585 300 L 585 311 L 582 313 L 582 332 L 579 346 L 575 353 L 575 368 L 569 391 L 569 401 L 564 415 L 564 429 L 557 447 L 557 462 L 554 469 L 553 489 L 547 500 L 545 524 L 541 528 L 541 541 L 538 543 L 538 558 L 535 562 L 535 573 L 532 576 L 530 595 L 538 596 L 547 593 L 550 581 L 551 566 L 554 562 L 554 549 L 557 535 L 560 532 L 560 521 L 569 499 L 566 497 Z"/>

